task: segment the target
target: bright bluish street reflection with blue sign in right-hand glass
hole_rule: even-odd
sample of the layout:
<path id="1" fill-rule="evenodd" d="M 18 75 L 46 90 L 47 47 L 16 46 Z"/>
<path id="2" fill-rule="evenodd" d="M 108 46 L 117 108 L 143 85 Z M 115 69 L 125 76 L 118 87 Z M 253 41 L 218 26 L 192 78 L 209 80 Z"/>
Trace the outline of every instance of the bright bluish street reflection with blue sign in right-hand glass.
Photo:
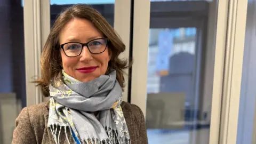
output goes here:
<path id="1" fill-rule="evenodd" d="M 181 34 L 181 31 L 182 33 L 189 31 L 189 33 L 184 35 L 184 33 Z M 183 85 L 184 83 L 181 83 L 181 86 L 179 86 L 177 83 L 174 83 L 175 81 L 171 81 L 171 79 L 176 77 L 192 79 L 196 28 L 152 28 L 149 30 L 149 37 L 147 92 L 179 91 L 177 90 L 179 89 L 178 87 L 183 87 L 181 91 L 185 89 L 189 91 L 191 86 L 185 86 Z M 181 39 L 182 41 L 180 41 Z M 177 61 L 179 63 L 175 63 Z M 189 81 L 185 83 L 191 84 Z M 171 84 L 174 85 L 170 86 Z"/>

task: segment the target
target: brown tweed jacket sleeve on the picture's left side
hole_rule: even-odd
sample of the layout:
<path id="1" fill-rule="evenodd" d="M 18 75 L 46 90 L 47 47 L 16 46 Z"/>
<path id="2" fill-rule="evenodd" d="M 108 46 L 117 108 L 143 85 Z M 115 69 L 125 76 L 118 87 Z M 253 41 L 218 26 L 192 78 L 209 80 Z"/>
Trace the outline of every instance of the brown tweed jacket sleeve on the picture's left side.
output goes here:
<path id="1" fill-rule="evenodd" d="M 12 143 L 37 143 L 35 133 L 30 124 L 28 108 L 25 107 L 21 110 L 20 115 L 15 121 L 15 129 L 13 132 Z"/>

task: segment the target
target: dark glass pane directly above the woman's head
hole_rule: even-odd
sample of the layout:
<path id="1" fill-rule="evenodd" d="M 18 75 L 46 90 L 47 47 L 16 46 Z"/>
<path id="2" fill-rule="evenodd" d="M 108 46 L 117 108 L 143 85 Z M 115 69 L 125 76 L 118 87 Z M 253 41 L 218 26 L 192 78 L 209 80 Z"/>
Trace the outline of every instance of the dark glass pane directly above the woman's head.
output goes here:
<path id="1" fill-rule="evenodd" d="M 51 26 L 55 22 L 58 14 L 65 8 L 73 4 L 83 3 L 91 5 L 95 10 L 99 11 L 103 17 L 114 27 L 114 0 L 75 0 L 75 1 L 59 1 L 51 0 Z"/>

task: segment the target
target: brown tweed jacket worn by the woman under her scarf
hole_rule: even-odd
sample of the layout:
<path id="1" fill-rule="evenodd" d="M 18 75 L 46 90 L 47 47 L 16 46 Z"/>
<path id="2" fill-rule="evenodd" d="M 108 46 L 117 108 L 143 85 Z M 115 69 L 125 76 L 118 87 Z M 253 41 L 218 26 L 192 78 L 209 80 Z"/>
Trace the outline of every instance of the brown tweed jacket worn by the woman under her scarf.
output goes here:
<path id="1" fill-rule="evenodd" d="M 124 117 L 130 133 L 131 144 L 148 143 L 145 118 L 138 106 L 122 103 Z M 49 101 L 25 107 L 16 119 L 12 143 L 55 143 L 51 131 L 47 128 Z M 68 131 L 69 141 L 75 143 Z M 60 133 L 60 143 L 68 143 L 65 132 Z"/>

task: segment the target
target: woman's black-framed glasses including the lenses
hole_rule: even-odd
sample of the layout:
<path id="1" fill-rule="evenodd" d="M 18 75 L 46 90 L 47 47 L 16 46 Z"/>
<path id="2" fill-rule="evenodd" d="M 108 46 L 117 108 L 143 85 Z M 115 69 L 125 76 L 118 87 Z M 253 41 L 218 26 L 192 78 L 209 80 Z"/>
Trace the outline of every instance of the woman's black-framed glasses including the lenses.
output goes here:
<path id="1" fill-rule="evenodd" d="M 87 49 L 92 54 L 104 52 L 107 48 L 107 41 L 107 38 L 97 38 L 87 43 L 68 42 L 61 44 L 60 47 L 67 57 L 77 57 L 82 53 L 84 46 L 87 46 Z"/>

